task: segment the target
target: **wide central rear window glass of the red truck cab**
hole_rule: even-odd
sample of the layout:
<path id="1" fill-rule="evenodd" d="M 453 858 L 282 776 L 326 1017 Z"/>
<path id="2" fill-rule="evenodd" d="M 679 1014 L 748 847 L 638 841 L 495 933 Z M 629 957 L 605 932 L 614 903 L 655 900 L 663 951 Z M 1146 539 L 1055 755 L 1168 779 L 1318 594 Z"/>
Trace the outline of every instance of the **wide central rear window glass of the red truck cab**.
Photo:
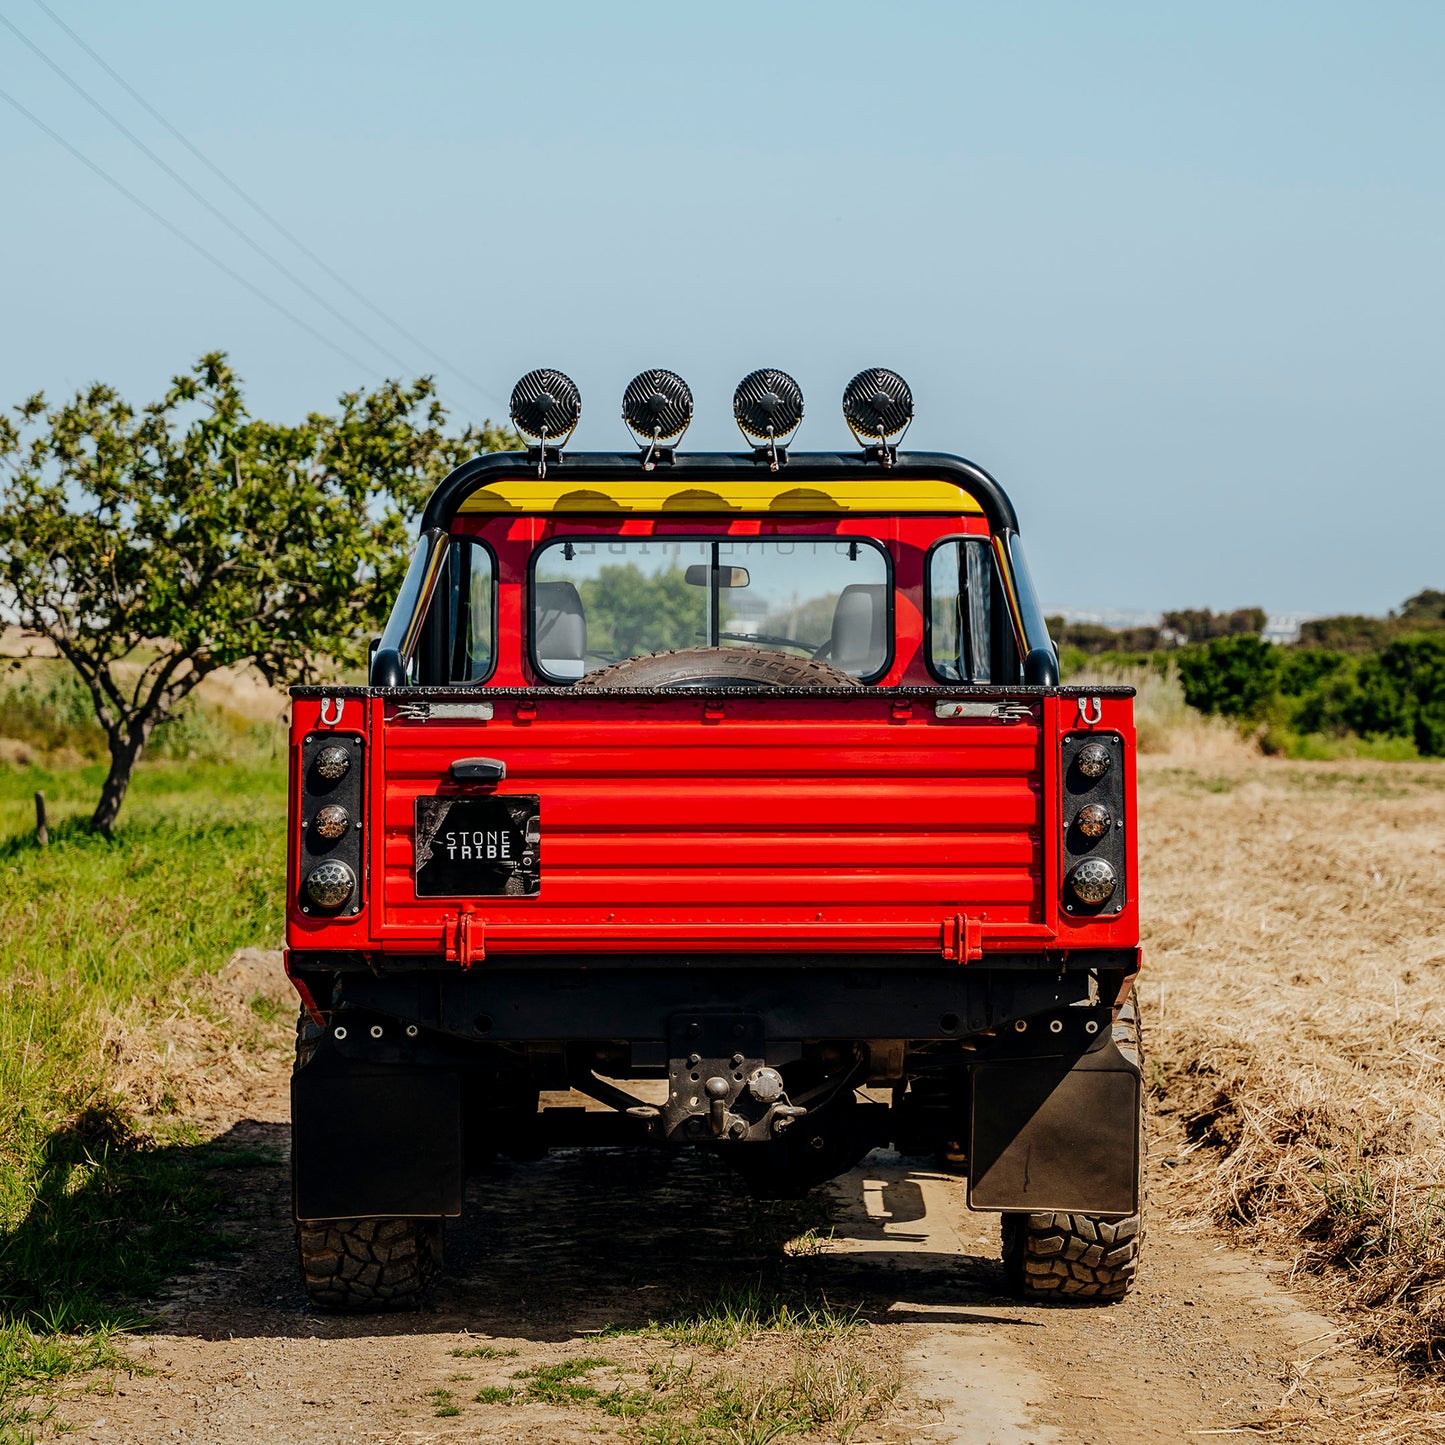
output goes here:
<path id="1" fill-rule="evenodd" d="M 551 542 L 538 549 L 532 650 L 574 681 L 672 647 L 767 647 L 855 678 L 887 666 L 889 565 L 837 538 Z"/>

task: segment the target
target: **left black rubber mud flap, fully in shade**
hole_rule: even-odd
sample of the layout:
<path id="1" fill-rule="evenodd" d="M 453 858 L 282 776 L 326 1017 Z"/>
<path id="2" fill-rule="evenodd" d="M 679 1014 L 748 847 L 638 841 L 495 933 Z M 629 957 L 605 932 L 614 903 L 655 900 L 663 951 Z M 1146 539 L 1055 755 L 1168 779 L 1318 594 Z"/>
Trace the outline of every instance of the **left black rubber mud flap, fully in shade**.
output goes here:
<path id="1" fill-rule="evenodd" d="M 298 1220 L 461 1214 L 461 1079 L 419 1069 L 301 1069 L 290 1081 Z"/>

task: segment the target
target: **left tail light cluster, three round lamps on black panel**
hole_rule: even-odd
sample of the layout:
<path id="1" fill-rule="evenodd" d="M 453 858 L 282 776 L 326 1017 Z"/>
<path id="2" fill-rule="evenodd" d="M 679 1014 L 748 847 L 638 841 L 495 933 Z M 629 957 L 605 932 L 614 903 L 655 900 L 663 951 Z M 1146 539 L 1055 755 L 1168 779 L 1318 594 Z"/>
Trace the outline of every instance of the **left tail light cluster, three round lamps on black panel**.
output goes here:
<path id="1" fill-rule="evenodd" d="M 354 733 L 308 733 L 301 744 L 302 913 L 361 910 L 364 762 L 364 738 Z"/>

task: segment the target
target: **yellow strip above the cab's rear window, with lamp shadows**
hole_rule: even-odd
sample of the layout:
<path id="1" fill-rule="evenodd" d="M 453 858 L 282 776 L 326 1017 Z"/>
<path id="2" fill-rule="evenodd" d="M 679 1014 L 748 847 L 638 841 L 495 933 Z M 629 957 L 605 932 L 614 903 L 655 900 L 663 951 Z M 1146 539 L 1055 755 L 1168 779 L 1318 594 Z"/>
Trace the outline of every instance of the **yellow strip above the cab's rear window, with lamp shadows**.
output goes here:
<path id="1" fill-rule="evenodd" d="M 709 487 L 679 487 L 660 470 L 578 487 L 566 477 L 507 477 L 478 487 L 460 516 L 499 512 L 933 512 L 981 516 L 983 507 L 957 483 L 887 474 L 840 477 L 790 487 L 783 477 L 740 477 Z"/>

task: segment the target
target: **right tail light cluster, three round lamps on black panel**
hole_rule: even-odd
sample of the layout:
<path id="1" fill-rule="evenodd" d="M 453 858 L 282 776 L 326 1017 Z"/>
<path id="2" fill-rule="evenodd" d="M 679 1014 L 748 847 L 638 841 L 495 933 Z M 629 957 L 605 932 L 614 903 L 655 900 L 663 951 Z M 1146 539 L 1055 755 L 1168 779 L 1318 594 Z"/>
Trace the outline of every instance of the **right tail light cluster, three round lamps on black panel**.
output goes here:
<path id="1" fill-rule="evenodd" d="M 1064 738 L 1064 909 L 1113 915 L 1126 902 L 1124 740 L 1118 733 Z"/>

